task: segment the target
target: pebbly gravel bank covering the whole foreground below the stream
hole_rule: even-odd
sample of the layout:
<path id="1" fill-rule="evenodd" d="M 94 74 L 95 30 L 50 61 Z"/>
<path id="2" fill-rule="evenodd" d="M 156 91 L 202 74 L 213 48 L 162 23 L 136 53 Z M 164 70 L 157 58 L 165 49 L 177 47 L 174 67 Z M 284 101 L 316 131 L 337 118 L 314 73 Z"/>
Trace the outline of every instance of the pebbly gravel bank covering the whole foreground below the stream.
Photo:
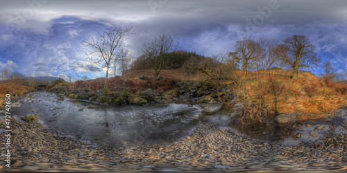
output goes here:
<path id="1" fill-rule="evenodd" d="M 1 123 L 2 126 L 4 123 Z M 312 145 L 255 143 L 201 123 L 187 138 L 156 148 L 104 149 L 49 132 L 40 122 L 12 119 L 11 167 L 6 171 L 347 171 L 347 135 Z M 3 127 L 1 127 L 3 128 Z M 5 133 L 1 134 L 2 141 Z M 1 143 L 1 156 L 6 148 Z"/>

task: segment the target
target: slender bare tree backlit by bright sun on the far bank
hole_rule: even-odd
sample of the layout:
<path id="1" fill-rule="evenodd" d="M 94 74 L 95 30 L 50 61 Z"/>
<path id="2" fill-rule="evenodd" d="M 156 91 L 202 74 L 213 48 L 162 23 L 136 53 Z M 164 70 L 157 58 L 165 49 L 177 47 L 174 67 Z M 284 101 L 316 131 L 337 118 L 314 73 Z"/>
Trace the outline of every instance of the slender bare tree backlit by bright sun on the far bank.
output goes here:
<path id="1" fill-rule="evenodd" d="M 130 35 L 131 28 L 121 28 L 112 26 L 106 28 L 102 33 L 98 32 L 98 36 L 92 35 L 90 39 L 83 41 L 89 48 L 87 55 L 87 63 L 84 65 L 86 69 L 91 71 L 104 71 L 105 85 L 104 93 L 108 90 L 108 71 L 112 61 L 119 48 L 124 46 L 124 39 Z"/>

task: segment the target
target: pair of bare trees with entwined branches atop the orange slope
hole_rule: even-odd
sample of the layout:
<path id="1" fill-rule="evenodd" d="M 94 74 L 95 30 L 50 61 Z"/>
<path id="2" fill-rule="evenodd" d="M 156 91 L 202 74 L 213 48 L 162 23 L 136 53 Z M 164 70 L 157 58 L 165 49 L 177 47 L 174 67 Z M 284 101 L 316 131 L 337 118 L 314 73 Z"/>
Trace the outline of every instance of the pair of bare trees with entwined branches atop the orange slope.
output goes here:
<path id="1" fill-rule="evenodd" d="M 321 57 L 314 52 L 314 46 L 304 35 L 292 35 L 280 44 L 276 40 L 260 38 L 256 41 L 244 39 L 237 41 L 232 60 L 241 64 L 244 76 L 248 69 L 254 71 L 271 69 L 277 66 L 291 66 L 292 79 L 298 79 L 300 68 L 312 69 L 319 65 Z"/>

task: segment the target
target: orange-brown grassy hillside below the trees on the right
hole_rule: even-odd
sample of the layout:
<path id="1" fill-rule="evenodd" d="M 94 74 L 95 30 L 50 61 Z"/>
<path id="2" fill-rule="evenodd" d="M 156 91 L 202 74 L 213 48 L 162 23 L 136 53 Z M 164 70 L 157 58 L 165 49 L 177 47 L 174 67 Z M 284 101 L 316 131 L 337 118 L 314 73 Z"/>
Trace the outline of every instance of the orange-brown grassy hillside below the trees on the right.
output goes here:
<path id="1" fill-rule="evenodd" d="M 304 71 L 299 73 L 298 80 L 291 80 L 290 76 L 290 70 L 277 71 L 277 74 L 250 72 L 242 89 L 248 99 L 262 101 L 263 107 L 274 108 L 276 100 L 278 113 L 296 113 L 300 120 L 327 117 L 347 106 L 347 84 L 331 82 L 326 85 L 321 78 Z M 276 99 L 269 78 L 277 84 Z"/>

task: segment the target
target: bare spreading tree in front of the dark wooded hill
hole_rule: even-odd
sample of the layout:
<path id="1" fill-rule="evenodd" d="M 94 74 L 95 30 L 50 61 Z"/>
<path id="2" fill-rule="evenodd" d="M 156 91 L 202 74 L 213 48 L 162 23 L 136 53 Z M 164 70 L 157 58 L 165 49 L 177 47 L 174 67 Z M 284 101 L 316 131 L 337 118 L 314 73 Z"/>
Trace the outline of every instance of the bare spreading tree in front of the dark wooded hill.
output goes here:
<path id="1" fill-rule="evenodd" d="M 160 71 L 167 65 L 167 53 L 178 51 L 179 48 L 180 44 L 175 42 L 170 36 L 159 35 L 151 42 L 142 44 L 142 48 L 139 48 L 139 51 L 151 64 L 152 69 L 155 71 L 154 75 L 158 76 Z"/>

